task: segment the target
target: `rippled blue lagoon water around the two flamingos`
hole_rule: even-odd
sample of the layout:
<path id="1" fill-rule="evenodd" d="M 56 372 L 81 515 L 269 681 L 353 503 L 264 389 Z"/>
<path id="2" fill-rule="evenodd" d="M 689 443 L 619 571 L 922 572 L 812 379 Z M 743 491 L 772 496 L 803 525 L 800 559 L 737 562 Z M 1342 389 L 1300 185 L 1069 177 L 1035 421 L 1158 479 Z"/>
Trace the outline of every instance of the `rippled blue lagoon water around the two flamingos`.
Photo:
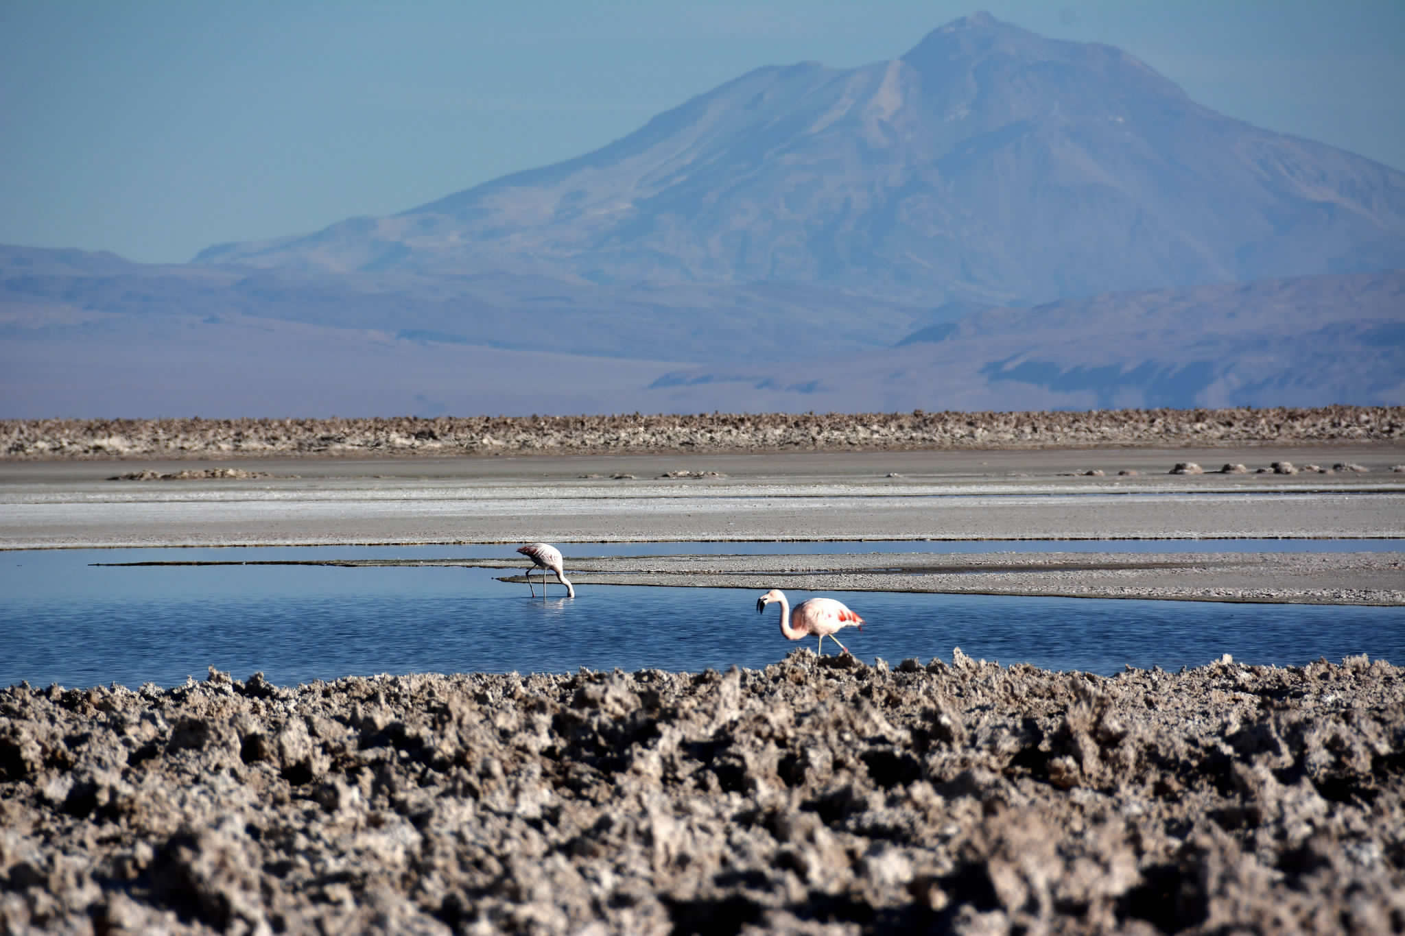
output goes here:
<path id="1" fill-rule="evenodd" d="M 575 556 L 833 551 L 1170 551 L 1398 549 L 1388 540 L 1198 543 L 628 543 Z M 528 596 L 483 568 L 315 566 L 100 567 L 131 561 L 513 557 L 504 546 L 148 549 L 0 553 L 0 686 L 28 681 L 169 686 L 214 665 L 275 683 L 378 672 L 700 671 L 764 667 L 798 646 L 756 589 L 583 585 L 568 601 Z M 569 561 L 568 561 L 569 567 Z M 1243 605 L 825 592 L 861 613 L 840 640 L 861 660 L 971 657 L 1113 674 L 1166 669 L 1224 653 L 1301 665 L 1366 653 L 1405 661 L 1405 608 Z M 802 601 L 808 592 L 792 592 Z M 833 647 L 826 641 L 826 651 Z"/>

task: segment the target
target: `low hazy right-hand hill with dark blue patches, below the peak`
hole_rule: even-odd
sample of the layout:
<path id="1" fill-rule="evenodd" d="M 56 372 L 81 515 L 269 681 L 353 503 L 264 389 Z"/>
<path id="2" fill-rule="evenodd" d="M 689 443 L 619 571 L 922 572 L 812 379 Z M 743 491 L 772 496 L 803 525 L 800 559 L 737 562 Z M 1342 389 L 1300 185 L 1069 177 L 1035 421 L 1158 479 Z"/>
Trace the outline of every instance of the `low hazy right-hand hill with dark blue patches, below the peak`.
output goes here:
<path id="1" fill-rule="evenodd" d="M 780 376 L 778 376 L 780 375 Z M 1405 271 L 988 309 L 899 347 L 777 372 L 672 370 L 660 411 L 1314 406 L 1405 400 Z M 860 404 L 861 401 L 861 404 Z"/>

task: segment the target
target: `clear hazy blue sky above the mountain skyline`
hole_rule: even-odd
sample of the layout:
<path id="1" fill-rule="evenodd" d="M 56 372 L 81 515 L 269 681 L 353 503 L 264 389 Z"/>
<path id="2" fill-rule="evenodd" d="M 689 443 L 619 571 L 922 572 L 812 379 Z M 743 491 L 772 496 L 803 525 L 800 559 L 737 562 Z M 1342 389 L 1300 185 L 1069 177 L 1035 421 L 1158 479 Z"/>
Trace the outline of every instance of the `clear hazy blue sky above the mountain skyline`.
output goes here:
<path id="1" fill-rule="evenodd" d="M 185 261 L 386 215 L 979 8 L 1405 168 L 1401 0 L 0 0 L 0 243 Z"/>

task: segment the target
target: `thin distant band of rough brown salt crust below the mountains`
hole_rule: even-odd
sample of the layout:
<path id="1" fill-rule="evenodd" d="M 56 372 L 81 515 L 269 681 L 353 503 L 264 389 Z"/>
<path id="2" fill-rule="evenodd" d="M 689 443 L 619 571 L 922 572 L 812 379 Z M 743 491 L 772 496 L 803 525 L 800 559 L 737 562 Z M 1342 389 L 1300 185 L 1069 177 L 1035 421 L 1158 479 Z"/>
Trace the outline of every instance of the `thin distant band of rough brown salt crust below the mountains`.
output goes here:
<path id="1" fill-rule="evenodd" d="M 1405 439 L 1405 407 L 436 417 L 8 420 L 0 459 L 572 455 L 1184 446 Z"/>

